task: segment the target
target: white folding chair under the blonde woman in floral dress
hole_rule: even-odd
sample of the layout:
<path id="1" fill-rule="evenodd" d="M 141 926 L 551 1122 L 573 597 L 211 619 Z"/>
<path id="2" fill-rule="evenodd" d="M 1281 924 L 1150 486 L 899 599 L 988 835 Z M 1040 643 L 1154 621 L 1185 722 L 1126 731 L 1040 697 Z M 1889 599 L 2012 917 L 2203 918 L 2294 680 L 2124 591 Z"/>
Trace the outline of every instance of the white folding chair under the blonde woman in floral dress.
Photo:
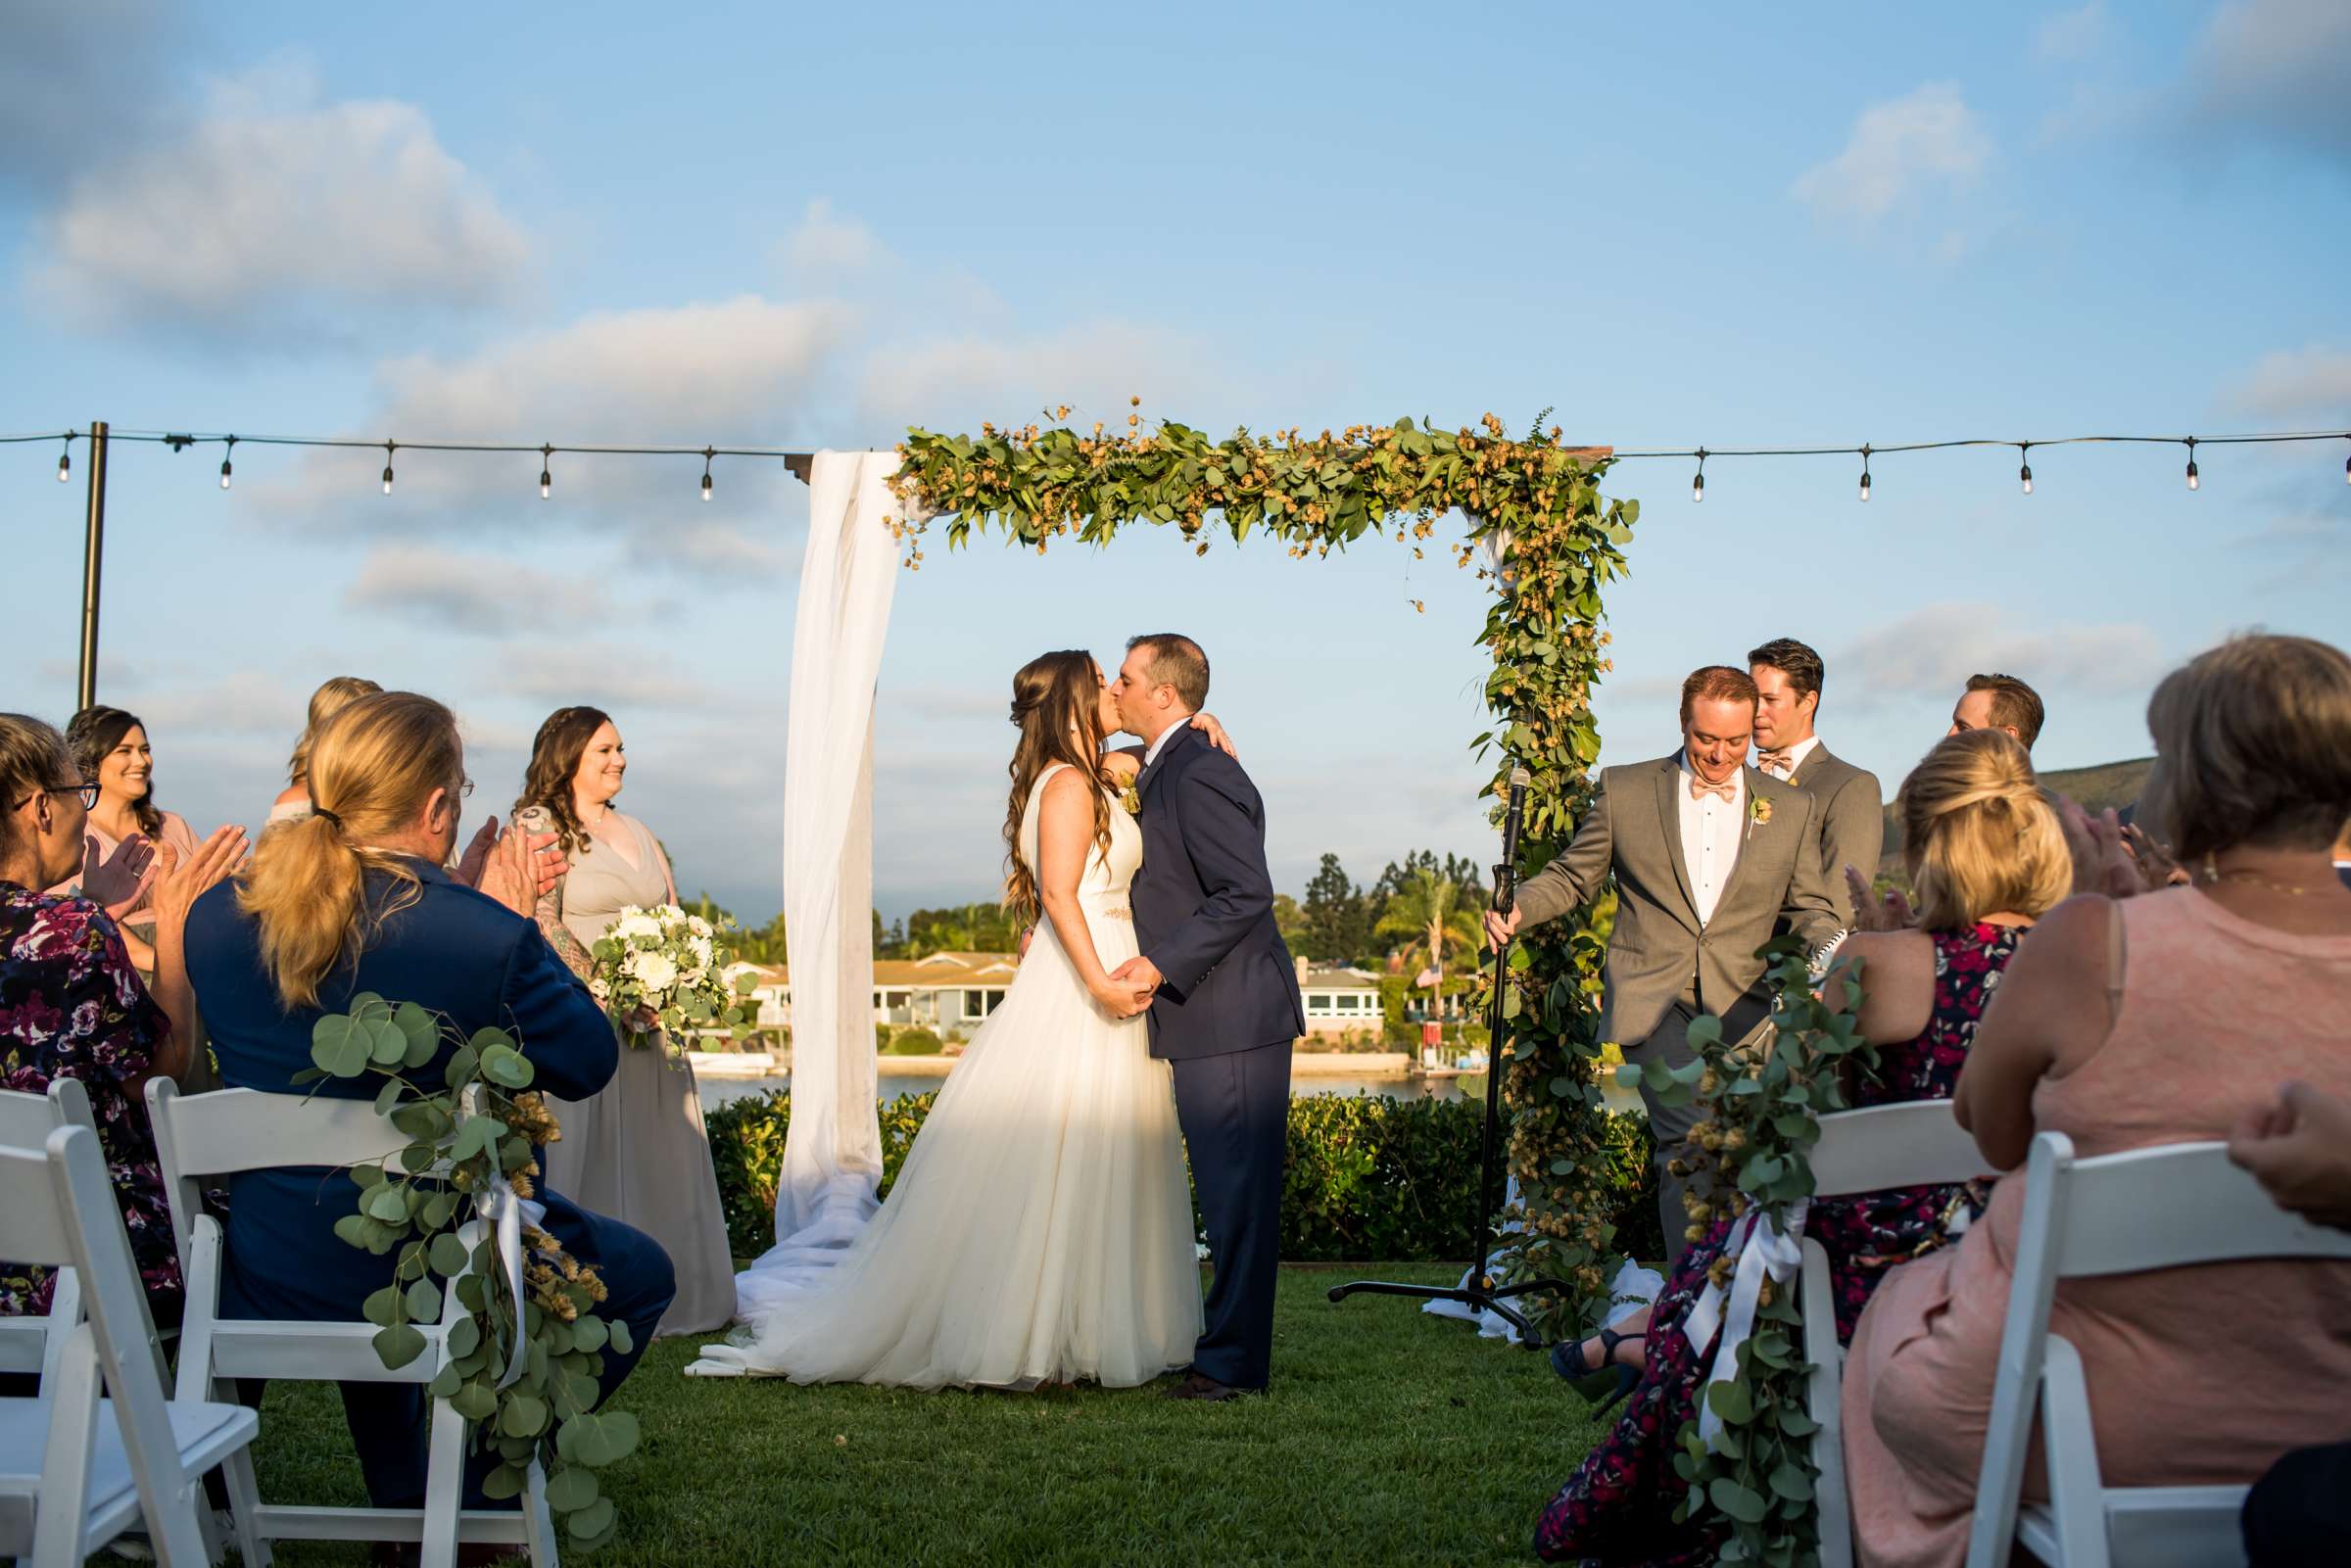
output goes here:
<path id="1" fill-rule="evenodd" d="M 1949 1100 L 1904 1100 L 1841 1110 L 1820 1119 L 1813 1145 L 1813 1197 L 1853 1197 L 1893 1187 L 1937 1187 L 1984 1175 L 1989 1161 L 1975 1138 L 1958 1126 Z M 1822 1568 L 1853 1568 L 1853 1512 L 1846 1502 L 1846 1347 L 1836 1342 L 1836 1295 L 1829 1288 L 1829 1253 L 1803 1241 L 1803 1359 L 1813 1363 L 1806 1389 L 1813 1434 L 1813 1495 L 1820 1509 Z"/>

